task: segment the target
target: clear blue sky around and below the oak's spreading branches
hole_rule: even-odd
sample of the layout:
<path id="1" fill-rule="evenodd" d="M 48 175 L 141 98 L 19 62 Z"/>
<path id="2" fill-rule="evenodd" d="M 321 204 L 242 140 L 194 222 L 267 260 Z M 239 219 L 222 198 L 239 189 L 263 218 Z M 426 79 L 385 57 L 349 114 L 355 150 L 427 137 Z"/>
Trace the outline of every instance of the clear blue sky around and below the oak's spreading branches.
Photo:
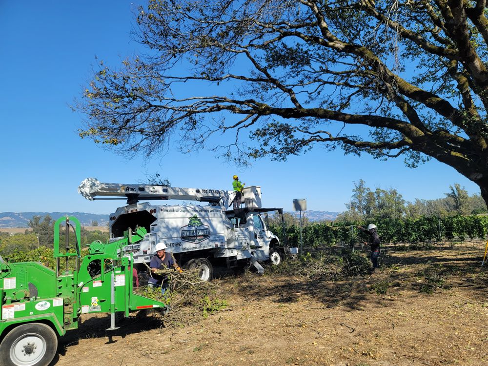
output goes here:
<path id="1" fill-rule="evenodd" d="M 119 202 L 83 199 L 77 187 L 84 178 L 139 183 L 154 173 L 173 186 L 213 189 L 231 189 L 237 173 L 247 185 L 262 187 L 264 205 L 285 210 L 294 198 L 306 198 L 308 209 L 343 211 L 360 179 L 372 189 L 396 188 L 407 201 L 445 197 L 453 183 L 479 193 L 476 184 L 436 161 L 410 169 L 403 159 L 380 162 L 316 147 L 284 163 L 259 160 L 238 170 L 207 151 L 189 156 L 170 148 L 163 157 L 127 161 L 81 140 L 82 116 L 69 105 L 89 80 L 95 57 L 114 66 L 134 54 L 138 44 L 130 30 L 137 4 L 0 2 L 0 212 L 108 214 Z"/>

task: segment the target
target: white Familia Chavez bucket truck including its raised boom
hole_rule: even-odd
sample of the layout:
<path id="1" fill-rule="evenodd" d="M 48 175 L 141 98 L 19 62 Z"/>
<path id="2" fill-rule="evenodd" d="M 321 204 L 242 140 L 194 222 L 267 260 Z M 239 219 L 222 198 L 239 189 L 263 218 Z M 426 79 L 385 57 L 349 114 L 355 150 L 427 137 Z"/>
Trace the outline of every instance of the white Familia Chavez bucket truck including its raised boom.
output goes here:
<path id="1" fill-rule="evenodd" d="M 282 208 L 263 208 L 261 188 L 245 187 L 244 207 L 228 210 L 235 196 L 233 191 L 199 188 L 176 188 L 162 185 L 100 183 L 94 178 L 85 179 L 78 192 L 88 200 L 127 199 L 127 205 L 117 208 L 110 215 L 110 239 L 117 240 L 127 228 L 143 226 L 144 239 L 133 246 L 136 269 L 145 271 L 155 255 L 156 244 L 168 247 L 178 264 L 186 268 L 200 268 L 201 278 L 209 281 L 214 266 L 233 268 L 239 264 L 253 264 L 263 273 L 260 262 L 278 265 L 285 255 L 285 247 L 268 229 L 263 214 Z M 99 198 L 97 196 L 106 196 Z M 97 197 L 97 198 L 96 198 Z M 184 200 L 208 203 L 161 205 L 141 200 Z"/>

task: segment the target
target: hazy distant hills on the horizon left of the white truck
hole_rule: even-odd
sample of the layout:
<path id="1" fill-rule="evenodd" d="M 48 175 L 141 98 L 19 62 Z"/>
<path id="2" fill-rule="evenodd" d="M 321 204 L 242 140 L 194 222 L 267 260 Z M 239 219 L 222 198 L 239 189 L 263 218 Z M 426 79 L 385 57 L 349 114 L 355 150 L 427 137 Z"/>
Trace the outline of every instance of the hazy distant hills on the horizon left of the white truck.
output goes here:
<path id="1" fill-rule="evenodd" d="M 53 220 L 61 216 L 74 216 L 80 220 L 83 226 L 91 226 L 93 221 L 97 221 L 99 226 L 105 226 L 108 223 L 108 214 L 97 215 L 84 212 L 0 212 L 0 228 L 4 227 L 29 227 L 29 221 L 34 216 L 49 215 Z"/>

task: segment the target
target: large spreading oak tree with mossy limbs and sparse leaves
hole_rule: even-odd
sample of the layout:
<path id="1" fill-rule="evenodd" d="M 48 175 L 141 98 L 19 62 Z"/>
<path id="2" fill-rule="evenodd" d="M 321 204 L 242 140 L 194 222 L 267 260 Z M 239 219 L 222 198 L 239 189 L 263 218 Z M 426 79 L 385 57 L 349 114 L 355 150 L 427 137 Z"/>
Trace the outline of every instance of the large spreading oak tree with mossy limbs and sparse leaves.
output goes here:
<path id="1" fill-rule="evenodd" d="M 433 158 L 488 201 L 486 6 L 151 0 L 134 30 L 146 50 L 95 70 L 80 134 L 134 154 L 178 135 L 183 150 L 210 142 L 238 162 L 317 144 L 410 166 Z"/>

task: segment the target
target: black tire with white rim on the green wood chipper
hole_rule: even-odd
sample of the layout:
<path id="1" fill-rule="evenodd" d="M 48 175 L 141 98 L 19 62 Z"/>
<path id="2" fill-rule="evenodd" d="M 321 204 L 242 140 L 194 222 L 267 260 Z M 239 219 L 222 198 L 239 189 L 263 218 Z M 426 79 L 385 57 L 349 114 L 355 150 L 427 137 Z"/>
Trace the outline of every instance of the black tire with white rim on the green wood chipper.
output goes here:
<path id="1" fill-rule="evenodd" d="M 56 355 L 58 337 L 42 323 L 13 328 L 0 344 L 2 366 L 48 366 Z"/>

